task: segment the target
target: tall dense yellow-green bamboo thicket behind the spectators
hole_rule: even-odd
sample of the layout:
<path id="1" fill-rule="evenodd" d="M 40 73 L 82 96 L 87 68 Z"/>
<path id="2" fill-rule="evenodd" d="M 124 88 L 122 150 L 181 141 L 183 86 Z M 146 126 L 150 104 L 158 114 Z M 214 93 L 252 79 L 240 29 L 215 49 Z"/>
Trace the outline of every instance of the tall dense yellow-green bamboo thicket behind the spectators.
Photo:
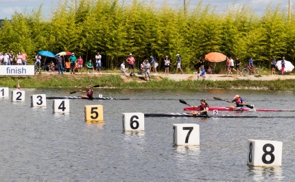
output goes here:
<path id="1" fill-rule="evenodd" d="M 36 52 L 49 50 L 75 52 L 84 60 L 103 56 L 104 66 L 119 67 L 132 53 L 137 67 L 154 55 L 163 67 L 168 55 L 191 71 L 198 58 L 209 52 L 250 56 L 256 65 L 268 68 L 272 57 L 293 61 L 295 56 L 295 16 L 290 19 L 281 5 L 269 4 L 261 16 L 251 7 L 229 4 L 224 12 L 199 1 L 197 5 L 160 7 L 153 1 L 134 0 L 60 0 L 48 18 L 42 5 L 32 12 L 15 13 L 0 27 L 0 50 L 22 50 L 32 63 Z M 223 67 L 225 62 L 217 64 Z M 218 67 L 217 67 L 218 71 Z"/>

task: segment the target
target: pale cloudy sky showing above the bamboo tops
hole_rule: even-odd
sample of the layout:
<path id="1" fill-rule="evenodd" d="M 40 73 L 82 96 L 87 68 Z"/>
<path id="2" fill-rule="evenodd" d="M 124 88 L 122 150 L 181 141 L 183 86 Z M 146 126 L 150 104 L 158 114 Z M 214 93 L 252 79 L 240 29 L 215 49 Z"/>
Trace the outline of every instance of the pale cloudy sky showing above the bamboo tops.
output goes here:
<path id="1" fill-rule="evenodd" d="M 0 8 L 0 19 L 11 19 L 12 14 L 14 12 L 23 12 L 25 8 L 27 8 L 27 11 L 32 11 L 34 8 L 38 8 L 39 5 L 43 3 L 43 13 L 45 15 L 49 14 L 50 8 L 52 5 L 57 5 L 59 0 L 0 0 L 1 8 Z M 71 0 L 69 0 L 71 1 Z M 75 1 L 75 0 L 72 0 Z M 79 1 L 79 0 L 77 0 Z M 132 0 L 125 0 L 126 3 L 130 3 Z M 156 6 L 161 5 L 164 0 L 154 0 L 154 4 Z M 180 6 L 183 5 L 183 0 L 167 0 L 169 2 L 169 5 L 171 6 Z M 186 0 L 189 2 L 190 5 L 196 5 L 199 0 Z M 291 0 L 295 1 L 295 0 Z M 150 0 L 147 0 L 147 2 L 150 2 Z M 203 4 L 207 5 L 210 3 L 211 5 L 216 5 L 217 10 L 223 11 L 224 8 L 230 3 L 235 2 L 238 4 L 244 4 L 248 3 L 253 10 L 257 12 L 257 14 L 261 15 L 263 10 L 266 8 L 266 6 L 269 3 L 273 3 L 274 5 L 277 5 L 281 3 L 282 7 L 285 7 L 287 10 L 289 0 L 204 0 Z"/>

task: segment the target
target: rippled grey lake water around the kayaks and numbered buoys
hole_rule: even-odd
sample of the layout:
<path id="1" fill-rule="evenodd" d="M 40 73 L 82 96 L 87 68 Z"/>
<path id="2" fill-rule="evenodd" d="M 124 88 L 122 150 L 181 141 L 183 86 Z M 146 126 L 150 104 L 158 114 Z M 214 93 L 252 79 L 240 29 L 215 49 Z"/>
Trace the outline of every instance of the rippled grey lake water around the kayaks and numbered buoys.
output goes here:
<path id="1" fill-rule="evenodd" d="M 95 89 L 130 100 L 70 100 L 69 114 L 31 107 L 29 95 L 73 90 L 23 89 L 25 102 L 0 99 L 3 181 L 293 181 L 295 112 L 228 112 L 258 118 L 145 117 L 145 131 L 123 132 L 122 113 L 184 112 L 188 104 L 229 106 L 213 96 L 264 109 L 295 109 L 294 91 Z M 11 91 L 11 90 L 10 90 Z M 176 95 L 178 94 L 178 95 Z M 75 93 L 72 95 L 80 95 Z M 102 104 L 104 122 L 85 122 L 84 106 Z M 212 112 L 212 111 L 211 111 Z M 173 124 L 199 124 L 200 146 L 174 146 Z M 281 167 L 247 166 L 248 139 L 283 141 Z"/>

